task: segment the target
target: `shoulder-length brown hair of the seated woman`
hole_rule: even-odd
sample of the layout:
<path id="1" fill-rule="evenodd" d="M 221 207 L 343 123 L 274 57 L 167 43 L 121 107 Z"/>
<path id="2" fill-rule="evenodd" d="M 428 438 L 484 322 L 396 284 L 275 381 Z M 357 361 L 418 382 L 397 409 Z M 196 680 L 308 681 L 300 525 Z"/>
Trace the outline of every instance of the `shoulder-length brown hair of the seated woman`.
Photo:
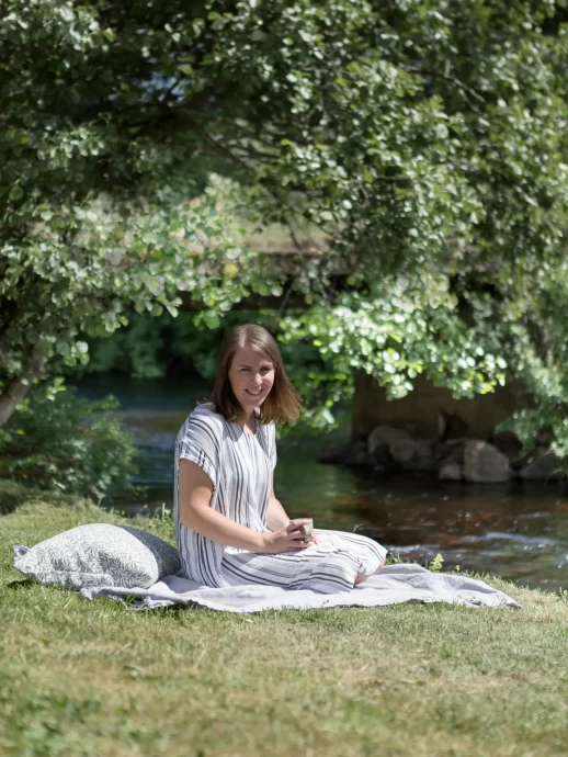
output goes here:
<path id="1" fill-rule="evenodd" d="M 251 347 L 274 365 L 274 383 L 260 406 L 261 423 L 285 423 L 296 420 L 302 408 L 302 398 L 289 381 L 279 346 L 274 337 L 262 326 L 241 324 L 225 335 L 217 357 L 215 386 L 209 403 L 215 413 L 234 422 L 242 415 L 229 381 L 229 369 L 239 347 Z"/>

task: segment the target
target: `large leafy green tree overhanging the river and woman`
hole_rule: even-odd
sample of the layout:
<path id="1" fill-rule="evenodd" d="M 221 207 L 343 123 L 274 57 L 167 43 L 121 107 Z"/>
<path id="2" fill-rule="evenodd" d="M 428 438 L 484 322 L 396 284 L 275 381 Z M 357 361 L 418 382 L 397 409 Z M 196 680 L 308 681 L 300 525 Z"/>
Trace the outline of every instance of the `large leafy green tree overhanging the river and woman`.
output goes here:
<path id="1" fill-rule="evenodd" d="M 553 282 L 566 302 L 564 3 L 4 4 L 0 423 L 125 303 L 158 312 L 191 291 L 214 326 L 266 286 L 250 263 L 235 278 L 227 256 L 245 251 L 225 222 L 183 202 L 213 157 L 237 204 L 330 236 L 296 280 L 313 307 L 282 339 L 314 341 L 338 382 L 363 366 L 400 395 L 427 371 L 473 393 L 513 362 L 550 386 L 566 353 L 549 328 Z M 191 255 L 195 235 L 213 262 Z M 338 269 L 351 292 L 330 292 Z"/>

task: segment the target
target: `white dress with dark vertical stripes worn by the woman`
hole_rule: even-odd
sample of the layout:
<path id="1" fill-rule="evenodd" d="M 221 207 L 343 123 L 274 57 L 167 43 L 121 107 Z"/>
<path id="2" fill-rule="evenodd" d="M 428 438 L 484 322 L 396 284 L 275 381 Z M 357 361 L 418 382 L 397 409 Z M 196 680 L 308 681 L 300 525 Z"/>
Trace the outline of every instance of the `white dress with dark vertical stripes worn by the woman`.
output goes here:
<path id="1" fill-rule="evenodd" d="M 206 539 L 181 523 L 178 502 L 180 460 L 196 463 L 211 478 L 209 506 L 254 531 L 270 533 L 266 511 L 276 465 L 274 423 L 257 414 L 253 436 L 225 420 L 207 404 L 197 405 L 175 440 L 175 538 L 184 575 L 209 587 L 263 584 L 322 594 L 351 591 L 357 573 L 371 575 L 387 550 L 372 539 L 315 529 L 318 544 L 300 551 L 260 554 Z"/>

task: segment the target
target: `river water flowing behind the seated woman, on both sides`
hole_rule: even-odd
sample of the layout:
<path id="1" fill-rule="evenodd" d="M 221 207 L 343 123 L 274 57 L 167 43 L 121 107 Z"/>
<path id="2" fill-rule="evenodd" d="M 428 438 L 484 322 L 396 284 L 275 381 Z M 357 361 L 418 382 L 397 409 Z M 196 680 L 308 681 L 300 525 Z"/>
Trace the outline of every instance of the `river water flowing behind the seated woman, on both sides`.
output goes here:
<path id="1" fill-rule="evenodd" d="M 147 494 L 109 506 L 152 513 L 172 507 L 175 434 L 207 386 L 189 381 L 88 376 L 78 394 L 112 393 L 140 449 Z M 554 483 L 440 483 L 428 474 L 385 475 L 317 462 L 349 439 L 349 428 L 316 439 L 279 440 L 274 489 L 291 518 L 319 528 L 357 531 L 402 560 L 489 573 L 547 591 L 568 590 L 568 494 Z"/>

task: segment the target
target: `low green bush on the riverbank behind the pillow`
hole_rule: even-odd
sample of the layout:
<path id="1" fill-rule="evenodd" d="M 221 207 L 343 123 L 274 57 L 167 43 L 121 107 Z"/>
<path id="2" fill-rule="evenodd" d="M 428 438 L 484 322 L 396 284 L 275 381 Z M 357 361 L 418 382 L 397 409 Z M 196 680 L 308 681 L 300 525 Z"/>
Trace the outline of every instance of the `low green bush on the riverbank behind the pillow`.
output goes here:
<path id="1" fill-rule="evenodd" d="M 0 429 L 0 477 L 102 499 L 127 490 L 138 454 L 111 396 L 96 403 L 69 392 L 48 399 L 37 389 Z"/>

